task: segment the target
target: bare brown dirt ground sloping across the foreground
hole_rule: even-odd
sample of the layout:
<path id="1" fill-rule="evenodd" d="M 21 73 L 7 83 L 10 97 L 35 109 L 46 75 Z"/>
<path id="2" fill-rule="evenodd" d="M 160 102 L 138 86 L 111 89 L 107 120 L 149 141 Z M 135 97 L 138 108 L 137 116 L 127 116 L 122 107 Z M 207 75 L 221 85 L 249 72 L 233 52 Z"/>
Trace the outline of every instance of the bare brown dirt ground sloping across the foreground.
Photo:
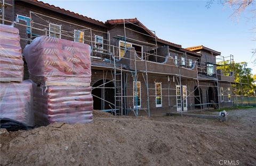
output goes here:
<path id="1" fill-rule="evenodd" d="M 228 112 L 220 122 L 94 111 L 91 124 L 1 129 L 1 165 L 256 165 L 256 109 Z"/>

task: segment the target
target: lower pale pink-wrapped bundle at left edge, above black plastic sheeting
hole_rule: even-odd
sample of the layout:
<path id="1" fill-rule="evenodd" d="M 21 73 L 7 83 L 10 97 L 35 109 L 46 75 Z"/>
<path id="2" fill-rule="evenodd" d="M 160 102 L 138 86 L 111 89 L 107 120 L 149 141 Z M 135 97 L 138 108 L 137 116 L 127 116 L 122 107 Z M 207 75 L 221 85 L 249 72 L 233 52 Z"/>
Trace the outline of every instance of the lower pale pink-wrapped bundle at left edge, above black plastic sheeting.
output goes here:
<path id="1" fill-rule="evenodd" d="M 0 82 L 0 116 L 34 126 L 32 83 Z"/>

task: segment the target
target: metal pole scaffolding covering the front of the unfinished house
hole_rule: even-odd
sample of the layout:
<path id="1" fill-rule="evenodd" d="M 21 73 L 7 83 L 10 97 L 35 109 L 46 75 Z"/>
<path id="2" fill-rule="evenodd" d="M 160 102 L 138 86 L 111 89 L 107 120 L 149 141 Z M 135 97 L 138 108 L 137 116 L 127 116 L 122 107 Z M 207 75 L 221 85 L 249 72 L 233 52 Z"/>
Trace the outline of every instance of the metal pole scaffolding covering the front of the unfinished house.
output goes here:
<path id="1" fill-rule="evenodd" d="M 90 27 L 86 27 L 84 25 L 80 25 L 74 22 L 68 22 L 65 20 L 53 18 L 52 16 L 47 16 L 45 14 L 36 13 L 30 11 L 29 13 L 29 19 L 30 23 L 28 24 L 22 24 L 19 23 L 19 21 L 10 21 L 5 20 L 4 18 L 1 18 L 4 23 L 7 24 L 14 24 L 19 25 L 23 28 L 29 28 L 30 33 L 27 38 L 21 38 L 22 41 L 26 42 L 26 44 L 30 43 L 35 37 L 39 36 L 61 36 L 62 38 L 76 41 L 76 32 L 74 30 L 69 31 L 65 29 L 70 29 L 70 26 L 74 26 L 73 29 L 76 31 L 79 31 L 79 34 L 83 34 L 82 42 L 87 43 L 92 48 L 92 54 L 91 54 L 91 60 L 92 60 L 92 67 L 102 69 L 103 71 L 103 83 L 98 86 L 93 86 L 92 89 L 114 89 L 114 102 L 110 102 L 107 99 L 105 99 L 105 90 L 103 90 L 103 96 L 98 97 L 96 95 L 93 95 L 95 98 L 99 98 L 103 101 L 103 109 L 106 108 L 106 105 L 109 106 L 111 109 L 110 111 L 113 112 L 114 115 L 130 115 L 130 112 L 133 112 L 135 116 L 140 115 L 140 110 L 145 111 L 148 116 L 152 116 L 153 113 L 150 111 L 150 99 L 155 98 L 155 102 L 161 101 L 163 102 L 163 98 L 166 98 L 168 101 L 168 108 L 164 110 L 164 112 L 160 112 L 159 114 L 163 114 L 166 112 L 171 112 L 173 110 L 177 110 L 179 112 L 186 111 L 188 107 L 190 109 L 193 109 L 193 107 L 199 107 L 199 109 L 204 109 L 205 107 L 211 106 L 212 104 L 215 104 L 218 108 L 221 107 L 221 101 L 223 97 L 223 92 L 220 89 L 220 80 L 219 78 L 223 75 L 231 76 L 231 71 L 229 72 L 229 75 L 226 73 L 218 73 L 217 66 L 219 65 L 217 62 L 212 63 L 212 73 L 209 76 L 209 67 L 207 67 L 207 59 L 206 57 L 196 57 L 191 56 L 187 54 L 187 51 L 180 51 L 180 50 L 174 50 L 170 49 L 168 47 L 168 53 L 169 55 L 163 56 L 159 55 L 158 53 L 158 42 L 155 31 L 151 31 L 147 29 L 146 27 L 142 27 L 138 24 L 132 23 L 129 20 L 123 20 L 123 27 L 124 27 L 124 35 L 117 35 L 115 38 L 119 41 L 122 41 L 124 43 L 124 48 L 121 48 L 120 46 L 115 46 L 113 43 L 111 43 L 110 40 L 110 32 L 109 31 L 100 31 L 95 30 Z M 54 21 L 58 22 L 61 25 L 61 28 L 58 27 L 50 27 L 50 24 L 56 24 Z M 67 26 L 67 24 L 69 26 Z M 129 27 L 129 26 L 130 27 Z M 131 28 L 131 25 L 134 27 L 137 27 L 139 30 L 136 31 Z M 145 33 L 145 31 L 147 33 Z M 150 42 L 140 41 L 137 39 L 132 39 L 127 35 L 128 33 L 138 33 L 140 35 L 143 35 L 147 38 L 151 38 L 149 40 Z M 95 36 L 101 36 L 102 42 L 97 41 L 97 38 Z M 81 40 L 81 38 L 79 38 Z M 128 47 L 126 44 L 127 41 L 133 41 L 137 43 L 138 45 L 146 45 L 148 47 L 147 51 L 138 51 L 135 49 L 132 49 L 131 47 Z M 80 41 L 79 41 L 80 42 Z M 124 55 L 121 56 L 121 50 L 124 51 Z M 131 57 L 127 58 L 125 55 L 130 54 Z M 191 53 L 190 53 L 191 54 Z M 212 55 L 214 56 L 214 55 Z M 181 57 L 181 58 L 177 58 Z M 152 58 L 154 60 L 152 60 Z M 190 59 L 189 59 L 190 58 Z M 227 58 L 230 58 L 230 63 L 226 64 L 225 60 Z M 233 55 L 230 55 L 229 57 L 223 57 L 220 56 L 220 58 L 224 61 L 223 65 L 233 65 L 234 59 Z M 139 59 L 139 60 L 138 60 Z M 194 59 L 193 62 L 191 62 L 191 59 Z M 133 63 L 134 69 L 126 69 L 125 66 L 122 65 L 121 60 L 129 60 Z M 169 60 L 172 62 L 171 64 L 167 64 Z M 96 62 L 99 62 L 98 64 Z M 104 64 L 100 64 L 101 62 L 104 62 Z M 143 69 L 141 68 L 141 63 L 145 66 L 143 66 Z M 167 67 L 174 67 L 177 68 L 177 71 L 172 72 L 153 72 L 148 70 L 148 64 L 161 64 Z M 140 64 L 138 66 L 138 64 Z M 194 76 L 185 76 L 182 75 L 181 70 L 187 70 L 190 73 L 193 73 Z M 234 73 L 233 73 L 234 74 Z M 107 77 L 111 76 L 112 79 L 107 81 Z M 149 75 L 151 77 L 154 77 L 154 75 L 161 76 L 166 80 L 166 83 L 164 85 L 167 85 L 165 88 L 162 88 L 162 82 L 161 82 L 161 95 L 158 95 L 158 98 L 156 98 L 157 95 L 157 89 L 156 89 L 156 83 L 155 87 L 151 87 L 149 83 Z M 151 78 L 150 77 L 150 78 Z M 132 78 L 133 85 L 129 85 L 129 79 Z M 146 104 L 141 104 L 141 82 L 138 81 L 141 78 L 143 80 L 145 87 L 146 87 Z M 105 87 L 105 85 L 109 82 L 114 83 L 114 88 Z M 187 82 L 187 83 L 185 83 Z M 229 81 L 230 88 L 231 84 L 233 82 Z M 174 86 L 175 85 L 175 86 Z M 194 87 L 191 87 L 194 86 Z M 131 89 L 132 88 L 132 89 Z M 201 88 L 206 88 L 206 98 L 207 102 L 202 101 L 202 90 Z M 217 89 L 217 96 L 218 96 L 218 103 L 212 103 L 212 101 L 208 101 L 208 91 L 210 88 Z M 129 95 L 131 91 L 133 92 L 132 95 Z M 167 91 L 166 95 L 162 94 L 162 90 L 164 92 Z M 195 94 L 195 92 L 197 92 Z M 232 90 L 230 90 L 231 92 Z M 241 92 L 242 93 L 242 92 Z M 154 95 L 152 95 L 154 94 Z M 242 95 L 242 94 L 241 94 Z M 243 95 L 242 95 L 243 96 Z M 176 100 L 175 104 L 172 104 L 172 99 Z M 189 100 L 189 106 L 188 106 L 188 100 Z M 197 100 L 197 103 L 192 104 L 193 100 Z M 232 99 L 231 102 L 234 99 Z M 132 101 L 132 102 L 131 102 Z M 133 103 L 133 107 L 129 108 L 128 102 Z M 154 113 L 154 115 L 157 115 L 157 113 Z"/>

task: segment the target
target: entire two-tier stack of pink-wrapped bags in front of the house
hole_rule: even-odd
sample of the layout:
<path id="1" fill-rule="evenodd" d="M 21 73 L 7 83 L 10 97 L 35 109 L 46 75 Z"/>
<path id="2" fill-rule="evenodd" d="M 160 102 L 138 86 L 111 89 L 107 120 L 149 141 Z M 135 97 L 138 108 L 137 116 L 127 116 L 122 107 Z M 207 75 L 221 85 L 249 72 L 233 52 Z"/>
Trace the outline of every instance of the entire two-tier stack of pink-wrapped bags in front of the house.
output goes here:
<path id="1" fill-rule="evenodd" d="M 35 123 L 90 123 L 91 47 L 52 37 L 38 37 L 23 50 L 34 82 Z"/>

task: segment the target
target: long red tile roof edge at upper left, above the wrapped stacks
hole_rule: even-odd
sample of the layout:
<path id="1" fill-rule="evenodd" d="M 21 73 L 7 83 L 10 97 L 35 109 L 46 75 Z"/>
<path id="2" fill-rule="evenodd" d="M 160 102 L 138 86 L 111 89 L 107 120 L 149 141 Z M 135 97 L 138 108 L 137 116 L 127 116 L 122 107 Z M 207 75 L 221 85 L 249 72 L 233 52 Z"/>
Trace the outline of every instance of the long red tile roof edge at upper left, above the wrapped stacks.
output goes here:
<path id="1" fill-rule="evenodd" d="M 89 18 L 89 17 L 84 16 L 82 14 L 74 13 L 74 12 L 71 12 L 69 10 L 65 10 L 64 8 L 60 8 L 58 6 L 50 5 L 50 4 L 44 3 L 42 1 L 37 1 L 37 0 L 29 0 L 29 1 L 28 0 L 21 0 L 21 1 L 27 2 L 27 3 L 30 3 L 30 4 L 33 4 L 33 5 L 37 5 L 37 6 L 40 6 L 40 7 L 44 7 L 44 8 L 53 10 L 55 12 L 61 12 L 62 14 L 73 16 L 77 19 L 82 19 L 82 20 L 85 20 L 87 22 L 94 23 L 94 24 L 97 24 L 97 25 L 101 25 L 102 27 L 106 27 L 106 25 L 102 21 Z"/>

